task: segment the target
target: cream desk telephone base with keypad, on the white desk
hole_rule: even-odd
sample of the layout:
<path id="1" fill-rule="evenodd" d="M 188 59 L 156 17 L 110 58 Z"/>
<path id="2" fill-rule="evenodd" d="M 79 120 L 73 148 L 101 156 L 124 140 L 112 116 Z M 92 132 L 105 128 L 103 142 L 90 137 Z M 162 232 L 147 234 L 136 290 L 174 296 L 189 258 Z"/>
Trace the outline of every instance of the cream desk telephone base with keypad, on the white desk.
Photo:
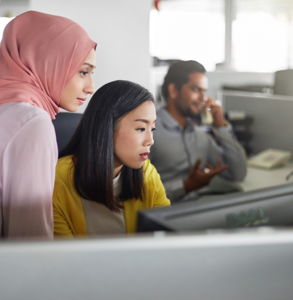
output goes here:
<path id="1" fill-rule="evenodd" d="M 291 151 L 267 149 L 247 160 L 247 165 L 256 168 L 278 168 L 286 164 L 291 158 Z"/>

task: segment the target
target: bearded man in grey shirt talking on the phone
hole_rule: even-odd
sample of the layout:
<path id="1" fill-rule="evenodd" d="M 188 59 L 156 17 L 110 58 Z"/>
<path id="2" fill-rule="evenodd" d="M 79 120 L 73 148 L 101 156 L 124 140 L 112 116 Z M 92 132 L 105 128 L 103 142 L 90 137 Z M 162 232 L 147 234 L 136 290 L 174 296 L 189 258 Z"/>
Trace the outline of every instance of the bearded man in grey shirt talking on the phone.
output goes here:
<path id="1" fill-rule="evenodd" d="M 205 95 L 205 72 L 199 62 L 176 62 L 162 85 L 166 107 L 157 110 L 149 158 L 171 202 L 196 199 L 199 189 L 215 175 L 231 181 L 246 175 L 245 150 L 224 119 L 222 108 Z M 200 114 L 211 119 L 214 137 L 195 125 Z"/>

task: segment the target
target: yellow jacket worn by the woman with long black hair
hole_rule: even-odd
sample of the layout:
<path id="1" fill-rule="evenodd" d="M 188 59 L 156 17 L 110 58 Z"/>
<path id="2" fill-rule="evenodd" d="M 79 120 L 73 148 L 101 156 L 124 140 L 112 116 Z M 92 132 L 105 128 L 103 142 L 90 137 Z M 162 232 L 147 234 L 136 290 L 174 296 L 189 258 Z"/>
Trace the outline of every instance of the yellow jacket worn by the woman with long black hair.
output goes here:
<path id="1" fill-rule="evenodd" d="M 144 201 L 123 201 L 127 233 L 136 232 L 138 210 L 168 206 L 170 201 L 156 168 L 147 159 L 144 164 Z M 55 237 L 84 237 L 86 223 L 79 194 L 73 181 L 72 155 L 58 159 L 53 193 L 53 215 Z"/>

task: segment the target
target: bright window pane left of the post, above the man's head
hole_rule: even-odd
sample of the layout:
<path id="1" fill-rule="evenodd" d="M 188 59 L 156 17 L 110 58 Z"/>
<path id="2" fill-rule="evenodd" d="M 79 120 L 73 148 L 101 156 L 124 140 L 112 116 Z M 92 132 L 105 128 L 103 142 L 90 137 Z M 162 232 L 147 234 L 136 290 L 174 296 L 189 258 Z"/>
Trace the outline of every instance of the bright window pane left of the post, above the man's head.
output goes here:
<path id="1" fill-rule="evenodd" d="M 214 71 L 225 55 L 224 1 L 161 1 L 150 13 L 150 55 L 192 59 Z"/>

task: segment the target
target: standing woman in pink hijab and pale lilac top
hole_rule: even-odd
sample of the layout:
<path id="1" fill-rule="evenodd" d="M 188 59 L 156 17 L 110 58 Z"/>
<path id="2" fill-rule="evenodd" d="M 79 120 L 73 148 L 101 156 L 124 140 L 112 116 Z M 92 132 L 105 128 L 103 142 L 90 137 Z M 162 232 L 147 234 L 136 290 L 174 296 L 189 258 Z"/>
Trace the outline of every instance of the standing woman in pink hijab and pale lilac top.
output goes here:
<path id="1" fill-rule="evenodd" d="M 96 43 L 75 22 L 25 12 L 0 44 L 0 232 L 53 238 L 58 158 L 51 119 L 94 93 Z"/>

